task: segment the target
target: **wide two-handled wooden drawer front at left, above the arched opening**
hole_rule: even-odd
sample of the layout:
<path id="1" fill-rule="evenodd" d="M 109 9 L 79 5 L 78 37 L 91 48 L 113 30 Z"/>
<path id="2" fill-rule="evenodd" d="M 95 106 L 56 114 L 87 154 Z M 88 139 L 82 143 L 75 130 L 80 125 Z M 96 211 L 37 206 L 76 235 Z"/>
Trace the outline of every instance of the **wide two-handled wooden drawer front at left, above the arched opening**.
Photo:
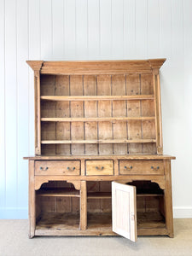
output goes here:
<path id="1" fill-rule="evenodd" d="M 79 160 L 36 160 L 35 175 L 79 175 Z"/>

